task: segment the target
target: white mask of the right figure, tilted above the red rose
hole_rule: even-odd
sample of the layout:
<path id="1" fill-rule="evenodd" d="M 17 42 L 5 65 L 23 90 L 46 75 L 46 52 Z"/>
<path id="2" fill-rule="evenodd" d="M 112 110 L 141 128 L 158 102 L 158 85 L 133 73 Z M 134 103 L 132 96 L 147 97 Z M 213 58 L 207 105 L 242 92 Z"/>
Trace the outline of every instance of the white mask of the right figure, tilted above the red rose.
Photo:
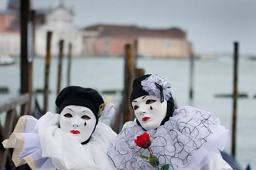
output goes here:
<path id="1" fill-rule="evenodd" d="M 146 130 L 156 129 L 166 117 L 166 100 L 161 103 L 159 98 L 146 95 L 134 99 L 132 106 L 136 118 Z"/>

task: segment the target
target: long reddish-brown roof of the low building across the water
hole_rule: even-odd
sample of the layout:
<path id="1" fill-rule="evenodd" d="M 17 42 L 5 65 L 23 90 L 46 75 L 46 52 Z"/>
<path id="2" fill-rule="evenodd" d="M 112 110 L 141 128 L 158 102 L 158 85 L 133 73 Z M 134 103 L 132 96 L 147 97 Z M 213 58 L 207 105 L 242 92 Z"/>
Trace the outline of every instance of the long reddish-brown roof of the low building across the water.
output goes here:
<path id="1" fill-rule="evenodd" d="M 84 30 L 95 30 L 100 36 L 118 36 L 136 38 L 139 36 L 186 38 L 186 33 L 179 28 L 148 29 L 136 25 L 92 25 Z"/>

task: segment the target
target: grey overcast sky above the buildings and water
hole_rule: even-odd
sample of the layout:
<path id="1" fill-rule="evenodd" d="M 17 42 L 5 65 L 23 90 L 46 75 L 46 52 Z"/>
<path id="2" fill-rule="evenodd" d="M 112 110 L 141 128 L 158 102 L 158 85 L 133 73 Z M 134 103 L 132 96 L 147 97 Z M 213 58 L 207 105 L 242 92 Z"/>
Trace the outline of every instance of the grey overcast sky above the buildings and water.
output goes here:
<path id="1" fill-rule="evenodd" d="M 7 0 L 0 0 L 0 9 Z M 56 8 L 60 0 L 32 0 L 33 8 Z M 256 55 L 256 0 L 64 0 L 74 10 L 74 24 L 178 27 L 187 32 L 195 53 Z"/>

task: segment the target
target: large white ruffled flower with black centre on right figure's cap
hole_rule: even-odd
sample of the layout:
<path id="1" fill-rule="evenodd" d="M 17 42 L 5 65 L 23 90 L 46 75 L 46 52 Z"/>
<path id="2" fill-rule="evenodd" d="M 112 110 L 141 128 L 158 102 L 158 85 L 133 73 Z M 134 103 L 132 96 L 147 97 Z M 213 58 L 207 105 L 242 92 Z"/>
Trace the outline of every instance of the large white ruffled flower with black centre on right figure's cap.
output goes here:
<path id="1" fill-rule="evenodd" d="M 159 97 L 161 103 L 164 100 L 169 100 L 171 97 L 171 85 L 168 83 L 168 80 L 157 74 L 152 74 L 141 81 L 141 85 L 142 89 L 148 92 L 150 96 Z"/>

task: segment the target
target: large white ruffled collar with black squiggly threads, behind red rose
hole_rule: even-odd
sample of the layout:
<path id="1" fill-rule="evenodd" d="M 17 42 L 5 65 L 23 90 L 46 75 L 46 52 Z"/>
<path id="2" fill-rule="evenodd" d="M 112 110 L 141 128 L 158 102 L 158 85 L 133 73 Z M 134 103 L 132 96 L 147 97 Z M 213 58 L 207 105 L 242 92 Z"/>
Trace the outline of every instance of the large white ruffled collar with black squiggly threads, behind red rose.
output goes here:
<path id="1" fill-rule="evenodd" d="M 134 143 L 144 132 L 136 120 L 124 124 L 108 150 L 108 156 L 117 169 L 155 169 L 140 157 L 149 155 L 148 150 Z M 160 167 L 169 164 L 169 169 L 175 170 L 200 169 L 212 159 L 217 149 L 224 149 L 228 140 L 228 130 L 220 125 L 218 117 L 194 107 L 176 109 L 164 125 L 146 132 L 150 134 L 150 149 L 158 157 Z"/>

